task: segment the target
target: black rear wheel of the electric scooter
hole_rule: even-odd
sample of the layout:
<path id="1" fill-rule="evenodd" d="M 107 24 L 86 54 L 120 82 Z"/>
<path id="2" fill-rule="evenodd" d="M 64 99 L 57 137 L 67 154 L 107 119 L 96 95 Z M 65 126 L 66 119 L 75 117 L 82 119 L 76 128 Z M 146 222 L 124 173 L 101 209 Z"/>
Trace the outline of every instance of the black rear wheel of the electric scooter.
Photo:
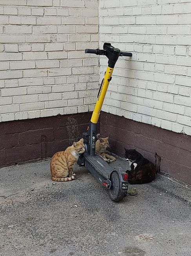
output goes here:
<path id="1" fill-rule="evenodd" d="M 119 202 L 125 196 L 125 192 L 122 192 L 120 190 L 119 174 L 116 171 L 114 171 L 110 176 L 110 180 L 112 185 L 111 185 L 111 188 L 109 189 L 109 197 L 111 198 L 112 201 Z"/>

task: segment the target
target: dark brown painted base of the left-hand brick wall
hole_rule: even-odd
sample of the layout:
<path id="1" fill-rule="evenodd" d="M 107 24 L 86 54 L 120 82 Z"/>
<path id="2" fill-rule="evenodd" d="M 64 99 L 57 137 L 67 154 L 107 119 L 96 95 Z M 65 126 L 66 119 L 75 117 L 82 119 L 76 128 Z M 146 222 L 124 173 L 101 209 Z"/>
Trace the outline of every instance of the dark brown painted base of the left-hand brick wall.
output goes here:
<path id="1" fill-rule="evenodd" d="M 0 166 L 53 156 L 85 132 L 91 113 L 0 123 Z"/>

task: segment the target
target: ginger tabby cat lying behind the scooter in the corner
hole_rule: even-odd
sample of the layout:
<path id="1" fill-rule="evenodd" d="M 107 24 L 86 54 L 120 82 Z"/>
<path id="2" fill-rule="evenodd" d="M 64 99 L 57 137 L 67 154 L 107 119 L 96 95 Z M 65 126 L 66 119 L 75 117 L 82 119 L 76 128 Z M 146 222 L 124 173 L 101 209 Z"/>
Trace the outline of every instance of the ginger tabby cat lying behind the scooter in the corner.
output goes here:
<path id="1" fill-rule="evenodd" d="M 104 161 L 111 163 L 115 162 L 116 158 L 114 156 L 108 155 L 106 153 L 106 148 L 109 146 L 108 138 L 100 138 L 100 135 L 97 135 L 98 140 L 96 141 L 96 155 L 103 158 Z"/>

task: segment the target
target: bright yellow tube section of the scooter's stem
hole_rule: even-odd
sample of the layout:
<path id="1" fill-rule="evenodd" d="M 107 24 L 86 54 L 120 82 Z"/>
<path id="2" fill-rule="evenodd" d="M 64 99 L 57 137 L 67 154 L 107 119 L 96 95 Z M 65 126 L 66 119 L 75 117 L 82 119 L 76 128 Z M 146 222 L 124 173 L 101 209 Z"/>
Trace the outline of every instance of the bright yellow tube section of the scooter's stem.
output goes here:
<path id="1" fill-rule="evenodd" d="M 113 73 L 113 68 L 110 68 L 109 66 L 107 67 L 106 74 L 104 76 L 104 81 L 101 85 L 98 98 L 96 101 L 96 105 L 91 117 L 91 122 L 96 124 L 98 122 L 99 116 L 100 116 L 100 111 L 104 102 L 104 98 L 106 96 L 107 88 L 109 86 L 109 82 L 111 81 L 111 76 Z"/>

